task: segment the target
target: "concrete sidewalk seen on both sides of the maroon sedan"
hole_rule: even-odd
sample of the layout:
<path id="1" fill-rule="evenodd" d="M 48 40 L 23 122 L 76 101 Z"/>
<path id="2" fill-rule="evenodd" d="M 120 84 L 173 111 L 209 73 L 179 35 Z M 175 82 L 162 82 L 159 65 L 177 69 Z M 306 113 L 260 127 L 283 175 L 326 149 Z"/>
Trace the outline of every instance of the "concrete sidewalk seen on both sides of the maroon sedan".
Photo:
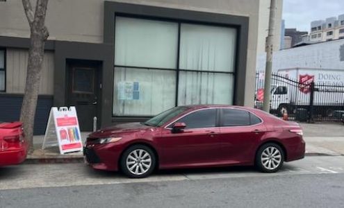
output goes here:
<path id="1" fill-rule="evenodd" d="M 344 155 L 343 123 L 300 123 L 300 125 L 304 129 L 306 156 Z M 81 132 L 83 144 L 88 134 L 90 132 Z M 44 135 L 34 137 L 33 146 L 35 151 L 32 155 L 28 155 L 26 163 L 72 163 L 83 161 L 83 153 L 81 152 L 60 155 L 58 146 L 42 150 L 43 138 Z"/>

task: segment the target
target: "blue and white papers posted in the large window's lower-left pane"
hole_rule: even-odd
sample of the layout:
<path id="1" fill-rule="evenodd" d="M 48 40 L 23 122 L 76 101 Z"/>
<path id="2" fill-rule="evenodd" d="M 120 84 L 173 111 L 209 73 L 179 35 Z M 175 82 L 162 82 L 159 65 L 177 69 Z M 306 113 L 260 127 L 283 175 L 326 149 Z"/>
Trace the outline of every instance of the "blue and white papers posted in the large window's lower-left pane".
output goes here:
<path id="1" fill-rule="evenodd" d="M 140 99 L 140 85 L 138 82 L 122 81 L 117 84 L 118 100 L 132 101 Z"/>

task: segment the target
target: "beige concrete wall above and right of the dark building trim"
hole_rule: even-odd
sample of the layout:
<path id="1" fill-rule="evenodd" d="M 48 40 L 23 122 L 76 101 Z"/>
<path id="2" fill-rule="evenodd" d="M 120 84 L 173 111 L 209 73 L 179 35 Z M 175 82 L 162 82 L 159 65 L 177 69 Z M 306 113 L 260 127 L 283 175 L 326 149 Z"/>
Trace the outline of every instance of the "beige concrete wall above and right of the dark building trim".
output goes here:
<path id="1" fill-rule="evenodd" d="M 257 46 L 265 49 L 269 0 L 125 0 L 117 2 L 145 4 L 165 8 L 217 12 L 249 17 L 249 40 L 247 49 L 247 85 L 245 105 L 253 106 L 254 71 L 256 69 Z M 281 19 L 282 1 L 278 1 L 277 19 Z M 264 17 L 264 18 L 263 18 Z M 263 18 L 259 21 L 259 18 Z M 28 37 L 28 23 L 21 0 L 1 2 L 0 36 Z M 76 42 L 103 42 L 104 1 L 101 0 L 55 0 L 49 1 L 47 27 L 50 40 Z M 261 28 L 258 28 L 261 26 Z M 276 21 L 276 34 L 280 33 L 280 21 Z M 265 32 L 264 32 L 265 31 Z M 279 46 L 276 37 L 276 46 Z"/>

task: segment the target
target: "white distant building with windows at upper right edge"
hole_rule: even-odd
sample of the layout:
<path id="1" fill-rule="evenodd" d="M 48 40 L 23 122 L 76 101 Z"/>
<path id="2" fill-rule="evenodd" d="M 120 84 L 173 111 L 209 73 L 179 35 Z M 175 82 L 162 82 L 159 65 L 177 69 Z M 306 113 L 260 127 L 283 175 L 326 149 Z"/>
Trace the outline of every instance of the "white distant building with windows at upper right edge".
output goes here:
<path id="1" fill-rule="evenodd" d="M 325 42 L 344 38 L 344 14 L 311 22 L 311 42 Z"/>

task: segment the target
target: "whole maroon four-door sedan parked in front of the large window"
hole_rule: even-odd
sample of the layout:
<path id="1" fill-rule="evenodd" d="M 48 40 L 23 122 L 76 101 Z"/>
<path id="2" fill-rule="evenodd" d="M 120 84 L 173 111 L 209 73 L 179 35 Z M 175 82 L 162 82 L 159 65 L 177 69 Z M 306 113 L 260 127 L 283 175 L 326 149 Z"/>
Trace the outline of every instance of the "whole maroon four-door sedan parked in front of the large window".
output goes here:
<path id="1" fill-rule="evenodd" d="M 190 105 L 94 132 L 84 154 L 93 168 L 147 177 L 155 168 L 238 165 L 272 173 L 304 151 L 297 123 L 249 107 Z"/>

